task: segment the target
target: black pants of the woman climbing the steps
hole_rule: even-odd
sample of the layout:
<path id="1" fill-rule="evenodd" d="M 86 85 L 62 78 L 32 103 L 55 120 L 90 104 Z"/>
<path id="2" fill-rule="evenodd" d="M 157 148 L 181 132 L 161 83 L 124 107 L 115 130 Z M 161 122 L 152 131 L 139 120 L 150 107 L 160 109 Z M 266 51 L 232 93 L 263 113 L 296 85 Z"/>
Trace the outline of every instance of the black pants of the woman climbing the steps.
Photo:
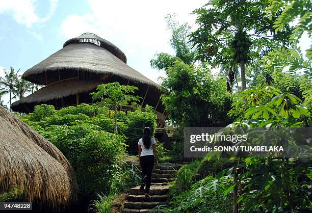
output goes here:
<path id="1" fill-rule="evenodd" d="M 142 180 L 145 183 L 145 193 L 149 193 L 151 173 L 154 167 L 154 155 L 141 156 Z M 144 177 L 146 175 L 145 181 Z"/>

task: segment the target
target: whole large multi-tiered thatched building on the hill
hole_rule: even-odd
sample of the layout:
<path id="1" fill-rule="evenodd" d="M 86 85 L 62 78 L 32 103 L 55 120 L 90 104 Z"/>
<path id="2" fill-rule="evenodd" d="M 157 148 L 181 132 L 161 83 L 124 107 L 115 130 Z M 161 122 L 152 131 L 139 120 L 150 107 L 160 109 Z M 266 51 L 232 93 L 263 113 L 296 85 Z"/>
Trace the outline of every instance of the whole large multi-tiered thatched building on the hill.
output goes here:
<path id="1" fill-rule="evenodd" d="M 154 107 L 159 120 L 164 122 L 166 114 L 159 85 L 126 62 L 125 54 L 117 46 L 94 34 L 69 39 L 62 49 L 23 73 L 23 79 L 47 87 L 14 102 L 12 109 L 31 112 L 41 103 L 53 104 L 56 108 L 91 103 L 89 93 L 97 85 L 117 81 L 138 87 L 136 95 L 142 97 L 142 107 L 146 104 Z"/>

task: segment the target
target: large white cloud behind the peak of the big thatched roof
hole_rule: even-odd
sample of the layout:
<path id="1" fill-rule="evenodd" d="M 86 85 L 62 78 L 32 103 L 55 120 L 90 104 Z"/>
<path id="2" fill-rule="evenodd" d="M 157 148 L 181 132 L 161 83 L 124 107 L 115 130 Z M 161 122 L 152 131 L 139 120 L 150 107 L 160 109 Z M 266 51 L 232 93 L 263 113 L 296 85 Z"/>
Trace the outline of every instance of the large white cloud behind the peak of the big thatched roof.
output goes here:
<path id="1" fill-rule="evenodd" d="M 89 0 L 90 12 L 70 15 L 61 24 L 65 39 L 85 32 L 95 33 L 124 51 L 128 64 L 157 81 L 163 73 L 153 70 L 149 61 L 157 52 L 173 53 L 168 41 L 165 16 L 175 13 L 181 22 L 194 24 L 190 13 L 206 3 L 198 1 L 102 1 Z"/>

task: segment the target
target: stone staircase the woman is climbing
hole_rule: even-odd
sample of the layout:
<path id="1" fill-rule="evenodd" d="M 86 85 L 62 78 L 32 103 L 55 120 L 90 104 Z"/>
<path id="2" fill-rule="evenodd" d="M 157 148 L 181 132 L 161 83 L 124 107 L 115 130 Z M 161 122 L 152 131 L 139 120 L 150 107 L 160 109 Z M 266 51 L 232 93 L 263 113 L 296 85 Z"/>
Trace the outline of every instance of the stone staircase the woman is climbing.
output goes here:
<path id="1" fill-rule="evenodd" d="M 140 192 L 140 185 L 131 189 L 127 196 L 122 213 L 150 212 L 151 208 L 161 204 L 168 204 L 169 183 L 173 181 L 176 171 L 181 167 L 179 164 L 164 163 L 155 166 L 152 173 L 149 197 Z"/>

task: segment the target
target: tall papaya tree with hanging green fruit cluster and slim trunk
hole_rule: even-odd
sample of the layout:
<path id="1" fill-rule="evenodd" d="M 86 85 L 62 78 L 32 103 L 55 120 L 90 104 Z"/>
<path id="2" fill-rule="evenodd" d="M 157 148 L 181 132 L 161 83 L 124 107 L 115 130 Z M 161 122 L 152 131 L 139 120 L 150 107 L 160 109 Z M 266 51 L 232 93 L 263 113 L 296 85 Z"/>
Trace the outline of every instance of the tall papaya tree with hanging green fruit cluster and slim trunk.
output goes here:
<path id="1" fill-rule="evenodd" d="M 273 28 L 276 16 L 266 17 L 268 0 L 210 0 L 194 11 L 199 28 L 191 41 L 197 48 L 196 59 L 212 66 L 240 66 L 242 90 L 246 89 L 245 65 L 265 56 L 281 42 L 287 44 L 291 28 Z"/>

